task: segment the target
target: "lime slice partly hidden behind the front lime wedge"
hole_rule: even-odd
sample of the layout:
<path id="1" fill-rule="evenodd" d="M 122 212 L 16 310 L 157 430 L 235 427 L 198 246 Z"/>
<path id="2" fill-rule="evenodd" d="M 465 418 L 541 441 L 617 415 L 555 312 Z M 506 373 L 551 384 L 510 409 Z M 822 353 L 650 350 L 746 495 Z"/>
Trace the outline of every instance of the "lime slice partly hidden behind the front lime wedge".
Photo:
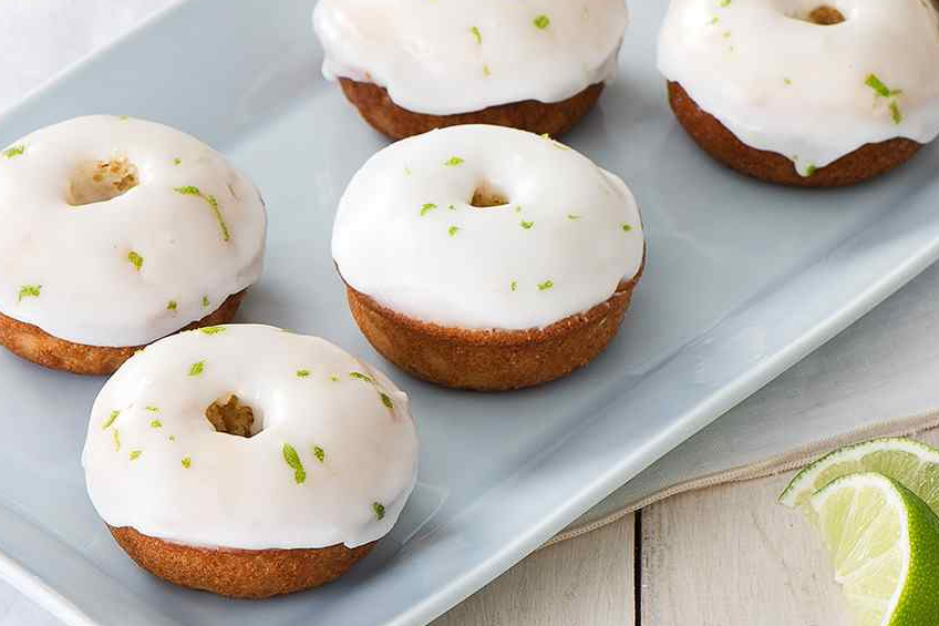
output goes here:
<path id="1" fill-rule="evenodd" d="M 780 502 L 801 506 L 835 479 L 860 472 L 894 479 L 939 514 L 939 450 L 910 439 L 875 439 L 836 450 L 799 472 Z"/>

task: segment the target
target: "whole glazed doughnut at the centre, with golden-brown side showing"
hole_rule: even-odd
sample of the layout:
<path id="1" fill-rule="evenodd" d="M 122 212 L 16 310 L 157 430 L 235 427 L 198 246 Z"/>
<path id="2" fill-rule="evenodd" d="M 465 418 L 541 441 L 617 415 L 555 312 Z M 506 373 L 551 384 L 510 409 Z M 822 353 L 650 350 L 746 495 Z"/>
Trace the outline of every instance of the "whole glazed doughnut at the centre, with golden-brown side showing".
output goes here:
<path id="1" fill-rule="evenodd" d="M 617 176 L 549 137 L 466 125 L 373 156 L 340 201 L 332 255 L 383 357 L 437 384 L 503 391 L 606 348 L 646 243 Z"/>

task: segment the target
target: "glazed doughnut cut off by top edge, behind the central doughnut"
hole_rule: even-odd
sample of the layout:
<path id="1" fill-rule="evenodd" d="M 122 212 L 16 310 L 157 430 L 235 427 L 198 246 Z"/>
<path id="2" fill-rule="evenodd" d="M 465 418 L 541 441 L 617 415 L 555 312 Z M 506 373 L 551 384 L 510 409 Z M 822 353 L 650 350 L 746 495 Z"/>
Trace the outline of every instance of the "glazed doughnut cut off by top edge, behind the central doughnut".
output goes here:
<path id="1" fill-rule="evenodd" d="M 570 130 L 617 70 L 625 0 L 321 0 L 323 75 L 376 131 Z"/>

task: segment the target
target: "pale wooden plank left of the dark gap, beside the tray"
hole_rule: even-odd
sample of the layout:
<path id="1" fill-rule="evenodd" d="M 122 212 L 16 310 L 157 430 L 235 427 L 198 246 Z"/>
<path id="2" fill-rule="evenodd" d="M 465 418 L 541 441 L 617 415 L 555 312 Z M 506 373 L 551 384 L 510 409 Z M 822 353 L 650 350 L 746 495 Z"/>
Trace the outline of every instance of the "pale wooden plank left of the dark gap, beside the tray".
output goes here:
<path id="1" fill-rule="evenodd" d="M 434 626 L 633 626 L 634 517 L 536 552 Z"/>

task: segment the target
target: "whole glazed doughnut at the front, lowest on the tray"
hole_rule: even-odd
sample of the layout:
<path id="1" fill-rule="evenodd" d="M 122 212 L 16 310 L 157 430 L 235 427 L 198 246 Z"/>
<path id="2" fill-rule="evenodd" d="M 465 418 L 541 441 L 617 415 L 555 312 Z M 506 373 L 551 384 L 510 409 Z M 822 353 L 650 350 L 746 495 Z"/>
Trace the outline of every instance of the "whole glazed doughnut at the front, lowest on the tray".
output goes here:
<path id="1" fill-rule="evenodd" d="M 265 598 L 328 583 L 395 524 L 415 482 L 407 397 L 316 337 L 174 335 L 102 389 L 82 454 L 117 544 L 171 583 Z"/>

